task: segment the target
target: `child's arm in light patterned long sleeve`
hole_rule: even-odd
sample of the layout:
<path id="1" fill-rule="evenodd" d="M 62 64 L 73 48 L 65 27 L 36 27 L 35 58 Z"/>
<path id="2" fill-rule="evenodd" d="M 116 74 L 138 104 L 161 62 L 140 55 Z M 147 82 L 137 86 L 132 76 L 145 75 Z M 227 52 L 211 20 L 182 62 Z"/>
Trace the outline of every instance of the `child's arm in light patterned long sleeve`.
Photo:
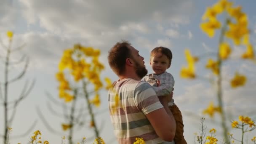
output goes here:
<path id="1" fill-rule="evenodd" d="M 170 73 L 163 73 L 160 77 L 160 85 L 158 87 L 153 86 L 157 96 L 165 96 L 172 92 L 174 79 Z"/>

